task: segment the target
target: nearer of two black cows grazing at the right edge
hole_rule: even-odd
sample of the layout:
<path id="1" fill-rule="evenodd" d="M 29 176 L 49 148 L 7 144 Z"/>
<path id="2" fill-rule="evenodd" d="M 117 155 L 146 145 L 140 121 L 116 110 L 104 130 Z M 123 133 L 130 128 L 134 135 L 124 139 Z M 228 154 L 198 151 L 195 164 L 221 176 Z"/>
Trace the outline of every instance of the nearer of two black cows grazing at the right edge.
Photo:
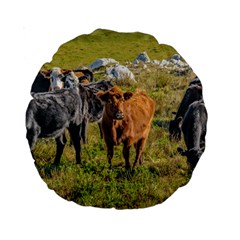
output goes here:
<path id="1" fill-rule="evenodd" d="M 180 117 L 179 127 L 182 129 L 187 150 L 179 147 L 178 152 L 187 156 L 191 171 L 205 150 L 207 119 L 207 110 L 202 100 L 190 104 L 184 117 Z"/>

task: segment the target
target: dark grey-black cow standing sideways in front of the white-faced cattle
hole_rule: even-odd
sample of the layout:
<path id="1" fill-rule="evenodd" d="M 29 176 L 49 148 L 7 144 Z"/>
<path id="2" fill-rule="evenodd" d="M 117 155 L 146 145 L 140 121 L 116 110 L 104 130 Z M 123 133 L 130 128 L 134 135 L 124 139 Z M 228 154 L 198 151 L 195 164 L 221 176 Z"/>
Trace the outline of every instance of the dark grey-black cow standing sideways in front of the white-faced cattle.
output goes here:
<path id="1" fill-rule="evenodd" d="M 34 95 L 26 111 L 26 138 L 33 158 L 37 139 L 52 137 L 55 138 L 57 146 L 54 164 L 59 164 L 67 141 L 65 130 L 68 129 L 75 148 L 76 163 L 81 163 L 81 109 L 82 101 L 78 88 Z"/>

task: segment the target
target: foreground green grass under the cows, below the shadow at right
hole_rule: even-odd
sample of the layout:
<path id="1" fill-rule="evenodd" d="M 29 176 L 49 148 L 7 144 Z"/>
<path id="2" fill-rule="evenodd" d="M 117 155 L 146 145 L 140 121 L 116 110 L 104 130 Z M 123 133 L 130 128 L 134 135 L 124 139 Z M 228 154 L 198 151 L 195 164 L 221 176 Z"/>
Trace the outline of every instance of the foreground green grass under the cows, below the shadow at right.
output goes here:
<path id="1" fill-rule="evenodd" d="M 88 144 L 82 149 L 82 165 L 75 164 L 74 151 L 68 144 L 60 166 L 55 167 L 54 141 L 37 143 L 34 155 L 39 174 L 64 199 L 84 206 L 144 208 L 163 202 L 189 181 L 186 160 L 177 154 L 178 144 L 168 141 L 165 129 L 152 127 L 144 163 L 133 173 L 125 170 L 122 146 L 115 147 L 113 169 L 109 169 L 105 145 L 96 136 L 97 131 L 98 126 L 91 124 Z M 131 162 L 134 154 L 132 148 Z"/>

